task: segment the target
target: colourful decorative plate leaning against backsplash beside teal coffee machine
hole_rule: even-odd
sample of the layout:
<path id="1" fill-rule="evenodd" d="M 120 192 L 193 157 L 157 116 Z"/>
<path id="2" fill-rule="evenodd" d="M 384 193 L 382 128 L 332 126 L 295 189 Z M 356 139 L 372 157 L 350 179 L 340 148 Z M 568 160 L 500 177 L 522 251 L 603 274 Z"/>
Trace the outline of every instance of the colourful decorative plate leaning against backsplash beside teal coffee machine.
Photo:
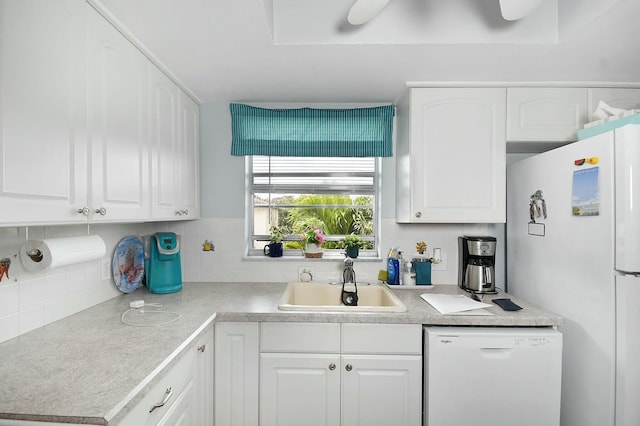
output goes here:
<path id="1" fill-rule="evenodd" d="M 113 254 L 113 281 L 123 293 L 131 293 L 142 285 L 144 276 L 144 245 L 134 235 L 120 240 Z"/>

